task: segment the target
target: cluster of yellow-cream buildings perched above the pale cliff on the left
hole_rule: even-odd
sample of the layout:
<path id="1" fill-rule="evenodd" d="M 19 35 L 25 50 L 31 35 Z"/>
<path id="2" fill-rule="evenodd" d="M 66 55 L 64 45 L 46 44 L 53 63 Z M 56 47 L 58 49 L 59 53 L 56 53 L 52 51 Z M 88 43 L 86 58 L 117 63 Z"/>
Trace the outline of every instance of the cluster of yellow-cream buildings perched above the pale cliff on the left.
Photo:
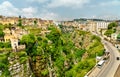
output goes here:
<path id="1" fill-rule="evenodd" d="M 25 48 L 25 45 L 18 45 L 18 41 L 23 35 L 28 34 L 27 31 L 20 29 L 19 27 L 12 27 L 11 30 L 6 28 L 4 33 L 4 41 L 11 42 L 13 50 L 21 50 Z"/>

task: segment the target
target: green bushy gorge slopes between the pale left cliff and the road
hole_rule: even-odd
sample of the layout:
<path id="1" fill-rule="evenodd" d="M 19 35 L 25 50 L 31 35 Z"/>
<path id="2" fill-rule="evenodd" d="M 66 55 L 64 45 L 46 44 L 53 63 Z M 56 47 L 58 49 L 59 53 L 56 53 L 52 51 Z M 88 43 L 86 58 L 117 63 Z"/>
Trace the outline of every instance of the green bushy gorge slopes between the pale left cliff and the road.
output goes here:
<path id="1" fill-rule="evenodd" d="M 30 65 L 36 77 L 83 77 L 103 55 L 101 39 L 85 31 L 62 33 L 50 26 L 46 36 L 31 32 L 23 36 Z"/>

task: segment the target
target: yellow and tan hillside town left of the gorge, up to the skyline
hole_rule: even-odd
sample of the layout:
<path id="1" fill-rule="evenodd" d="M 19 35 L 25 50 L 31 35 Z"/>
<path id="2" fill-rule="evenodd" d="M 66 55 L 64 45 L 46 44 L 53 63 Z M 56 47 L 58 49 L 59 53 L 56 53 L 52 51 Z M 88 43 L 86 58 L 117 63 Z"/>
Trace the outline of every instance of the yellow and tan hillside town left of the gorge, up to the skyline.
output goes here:
<path id="1" fill-rule="evenodd" d="M 22 20 L 22 22 L 20 22 Z M 40 34 L 45 34 L 48 31 L 48 26 L 53 25 L 53 20 L 42 20 L 38 18 L 21 18 L 19 17 L 5 17 L 0 16 L 0 26 L 8 26 L 3 29 L 4 36 L 0 37 L 0 42 L 11 42 L 12 49 L 24 49 L 24 45 L 18 45 L 19 40 L 23 35 L 27 35 L 30 32 L 27 29 L 22 29 L 18 24 L 24 27 L 32 26 L 41 30 Z"/>

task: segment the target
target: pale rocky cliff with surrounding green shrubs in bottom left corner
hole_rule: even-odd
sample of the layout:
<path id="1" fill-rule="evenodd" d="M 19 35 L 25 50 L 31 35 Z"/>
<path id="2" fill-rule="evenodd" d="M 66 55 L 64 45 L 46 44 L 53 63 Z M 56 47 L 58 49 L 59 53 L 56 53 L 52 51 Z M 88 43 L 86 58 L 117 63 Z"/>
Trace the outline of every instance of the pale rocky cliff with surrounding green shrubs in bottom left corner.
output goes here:
<path id="1" fill-rule="evenodd" d="M 33 74 L 26 52 L 9 52 L 4 56 L 7 64 L 3 63 L 6 67 L 2 67 L 0 77 L 32 77 Z"/>

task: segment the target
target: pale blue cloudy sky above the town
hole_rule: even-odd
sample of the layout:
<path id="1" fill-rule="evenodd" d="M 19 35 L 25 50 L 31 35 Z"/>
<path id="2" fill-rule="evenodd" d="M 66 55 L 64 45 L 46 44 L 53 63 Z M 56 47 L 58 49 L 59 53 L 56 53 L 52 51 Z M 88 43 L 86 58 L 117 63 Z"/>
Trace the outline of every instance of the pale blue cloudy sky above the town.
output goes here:
<path id="1" fill-rule="evenodd" d="M 0 15 L 53 20 L 119 18 L 120 0 L 0 0 Z"/>

